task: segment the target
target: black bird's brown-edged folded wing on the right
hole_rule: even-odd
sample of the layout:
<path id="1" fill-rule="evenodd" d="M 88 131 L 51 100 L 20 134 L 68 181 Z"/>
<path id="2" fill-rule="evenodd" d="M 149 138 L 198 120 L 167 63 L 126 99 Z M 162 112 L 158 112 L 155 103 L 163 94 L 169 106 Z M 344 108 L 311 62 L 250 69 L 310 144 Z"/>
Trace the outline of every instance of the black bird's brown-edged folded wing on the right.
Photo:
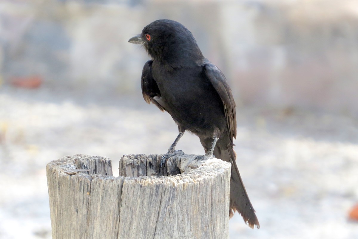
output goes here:
<path id="1" fill-rule="evenodd" d="M 223 102 L 225 117 L 231 137 L 236 138 L 236 104 L 232 96 L 231 88 L 226 81 L 224 74 L 214 64 L 207 62 L 203 65 L 205 75 L 219 94 Z"/>

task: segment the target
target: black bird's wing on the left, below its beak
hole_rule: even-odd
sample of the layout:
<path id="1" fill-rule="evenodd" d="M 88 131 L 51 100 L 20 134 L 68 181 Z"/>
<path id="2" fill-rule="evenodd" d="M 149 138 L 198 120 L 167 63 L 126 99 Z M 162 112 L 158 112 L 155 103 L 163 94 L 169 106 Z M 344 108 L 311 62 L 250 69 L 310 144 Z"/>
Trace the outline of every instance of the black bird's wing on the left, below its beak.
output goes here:
<path id="1" fill-rule="evenodd" d="M 157 83 L 152 76 L 152 63 L 153 60 L 148 60 L 142 70 L 142 94 L 145 102 L 150 104 L 152 102 L 161 111 L 167 111 L 161 102 L 161 94 Z"/>

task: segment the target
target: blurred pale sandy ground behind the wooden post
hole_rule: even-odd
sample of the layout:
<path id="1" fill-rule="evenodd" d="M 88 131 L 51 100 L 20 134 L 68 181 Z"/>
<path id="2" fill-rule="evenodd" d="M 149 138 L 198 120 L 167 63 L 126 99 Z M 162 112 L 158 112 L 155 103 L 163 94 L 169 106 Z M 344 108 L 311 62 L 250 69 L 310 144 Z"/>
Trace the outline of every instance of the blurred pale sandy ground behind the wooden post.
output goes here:
<path id="1" fill-rule="evenodd" d="M 0 88 L 1 239 L 51 238 L 49 161 L 84 153 L 118 165 L 125 153 L 167 151 L 177 135 L 173 120 L 140 92 L 136 98 Z M 231 239 L 358 238 L 358 223 L 347 220 L 358 202 L 357 118 L 239 107 L 237 120 L 237 163 L 261 229 L 236 214 Z M 177 148 L 203 153 L 189 133 Z"/>

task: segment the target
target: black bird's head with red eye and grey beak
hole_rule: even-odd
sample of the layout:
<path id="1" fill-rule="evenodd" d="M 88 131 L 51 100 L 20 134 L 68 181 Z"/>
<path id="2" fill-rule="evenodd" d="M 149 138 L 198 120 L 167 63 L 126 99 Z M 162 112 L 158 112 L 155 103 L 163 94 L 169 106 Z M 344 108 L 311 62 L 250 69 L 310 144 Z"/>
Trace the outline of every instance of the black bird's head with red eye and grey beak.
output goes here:
<path id="1" fill-rule="evenodd" d="M 173 20 L 153 21 L 128 42 L 142 44 L 153 60 L 170 67 L 201 64 L 204 59 L 193 34 Z"/>

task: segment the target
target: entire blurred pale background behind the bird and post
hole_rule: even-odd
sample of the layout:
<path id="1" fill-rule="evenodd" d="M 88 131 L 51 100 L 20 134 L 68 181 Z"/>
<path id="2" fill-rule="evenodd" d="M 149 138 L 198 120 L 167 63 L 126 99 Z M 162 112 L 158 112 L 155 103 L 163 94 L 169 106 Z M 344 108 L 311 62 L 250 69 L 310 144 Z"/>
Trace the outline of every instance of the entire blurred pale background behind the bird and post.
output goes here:
<path id="1" fill-rule="evenodd" d="M 358 238 L 357 0 L 2 0 L 0 238 L 51 238 L 45 166 L 165 153 L 127 41 L 156 19 L 192 31 L 237 103 L 237 164 L 261 229 L 230 238 Z M 178 143 L 203 154 L 196 136 Z"/>

